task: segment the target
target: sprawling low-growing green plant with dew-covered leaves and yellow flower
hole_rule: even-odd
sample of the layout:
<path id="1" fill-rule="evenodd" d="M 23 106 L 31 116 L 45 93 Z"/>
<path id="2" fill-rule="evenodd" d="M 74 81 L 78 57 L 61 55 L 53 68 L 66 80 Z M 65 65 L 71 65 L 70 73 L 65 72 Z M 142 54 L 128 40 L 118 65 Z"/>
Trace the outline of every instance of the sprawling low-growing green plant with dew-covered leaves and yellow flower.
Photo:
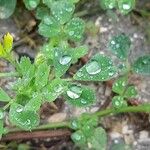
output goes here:
<path id="1" fill-rule="evenodd" d="M 137 96 L 136 87 L 129 82 L 130 74 L 149 76 L 150 55 L 143 55 L 130 62 L 128 56 L 131 40 L 124 33 L 113 36 L 108 41 L 110 51 L 121 62 L 118 66 L 110 57 L 96 54 L 73 77 L 66 74 L 71 65 L 88 53 L 87 46 L 79 46 L 85 23 L 73 15 L 77 2 L 78 0 L 43 0 L 40 3 L 39 0 L 24 0 L 29 10 L 37 7 L 36 17 L 41 20 L 39 33 L 47 38 L 47 43 L 40 48 L 31 63 L 28 57 L 21 57 L 19 61 L 13 56 L 13 37 L 9 33 L 1 41 L 0 57 L 9 61 L 15 67 L 15 72 L 0 73 L 0 77 L 16 77 L 12 85 L 15 93 L 13 97 L 0 88 L 0 101 L 6 103 L 0 109 L 1 136 L 18 130 L 4 127 L 5 112 L 8 109 L 10 123 L 20 129 L 31 131 L 67 127 L 74 130 L 71 138 L 82 149 L 89 147 L 103 150 L 106 148 L 107 136 L 99 126 L 99 118 L 123 112 L 150 112 L 150 104 L 128 106 L 128 100 Z M 116 2 L 121 5 L 121 0 Z M 76 107 L 90 106 L 97 101 L 95 92 L 80 81 L 103 82 L 113 78 L 115 82 L 112 91 L 115 96 L 111 108 L 82 114 L 66 122 L 39 126 L 39 110 L 45 102 L 53 102 L 63 96 L 68 104 Z"/>

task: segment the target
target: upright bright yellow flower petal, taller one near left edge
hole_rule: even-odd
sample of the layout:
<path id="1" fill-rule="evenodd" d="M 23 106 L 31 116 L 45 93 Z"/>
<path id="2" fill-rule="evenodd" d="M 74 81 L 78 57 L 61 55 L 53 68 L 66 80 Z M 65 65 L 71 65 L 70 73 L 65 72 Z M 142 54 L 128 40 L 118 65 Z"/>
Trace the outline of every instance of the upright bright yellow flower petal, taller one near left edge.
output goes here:
<path id="1" fill-rule="evenodd" d="M 3 47 L 7 53 L 10 53 L 13 46 L 13 37 L 11 34 L 7 33 L 4 35 Z"/>

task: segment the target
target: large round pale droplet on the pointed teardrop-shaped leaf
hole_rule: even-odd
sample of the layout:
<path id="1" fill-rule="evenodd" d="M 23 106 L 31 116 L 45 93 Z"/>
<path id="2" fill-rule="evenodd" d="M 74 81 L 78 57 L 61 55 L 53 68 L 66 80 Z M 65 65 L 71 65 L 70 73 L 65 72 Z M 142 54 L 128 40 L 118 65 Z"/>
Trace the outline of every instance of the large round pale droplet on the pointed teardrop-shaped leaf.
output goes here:
<path id="1" fill-rule="evenodd" d="M 98 62 L 94 60 L 94 61 L 91 61 L 89 64 L 86 65 L 86 71 L 90 75 L 95 75 L 95 74 L 100 73 L 101 68 L 100 68 Z"/>

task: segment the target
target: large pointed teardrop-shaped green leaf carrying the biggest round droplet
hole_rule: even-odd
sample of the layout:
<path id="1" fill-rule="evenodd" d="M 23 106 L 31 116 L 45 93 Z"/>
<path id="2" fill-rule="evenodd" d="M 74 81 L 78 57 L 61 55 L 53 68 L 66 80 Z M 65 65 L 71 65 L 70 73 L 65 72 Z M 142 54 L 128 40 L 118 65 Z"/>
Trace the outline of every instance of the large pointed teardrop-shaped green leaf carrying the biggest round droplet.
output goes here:
<path id="1" fill-rule="evenodd" d="M 97 54 L 83 66 L 74 76 L 75 80 L 82 81 L 106 81 L 116 75 L 117 70 L 111 59 Z"/>

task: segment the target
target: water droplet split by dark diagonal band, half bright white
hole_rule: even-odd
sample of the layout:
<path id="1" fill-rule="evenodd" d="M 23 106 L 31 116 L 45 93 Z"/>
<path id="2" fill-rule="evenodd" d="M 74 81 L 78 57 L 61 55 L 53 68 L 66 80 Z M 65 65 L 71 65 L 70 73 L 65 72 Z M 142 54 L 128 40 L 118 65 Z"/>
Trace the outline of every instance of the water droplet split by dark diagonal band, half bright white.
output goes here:
<path id="1" fill-rule="evenodd" d="M 77 99 L 82 94 L 82 88 L 80 86 L 72 86 L 68 91 L 67 95 L 72 99 Z"/>

